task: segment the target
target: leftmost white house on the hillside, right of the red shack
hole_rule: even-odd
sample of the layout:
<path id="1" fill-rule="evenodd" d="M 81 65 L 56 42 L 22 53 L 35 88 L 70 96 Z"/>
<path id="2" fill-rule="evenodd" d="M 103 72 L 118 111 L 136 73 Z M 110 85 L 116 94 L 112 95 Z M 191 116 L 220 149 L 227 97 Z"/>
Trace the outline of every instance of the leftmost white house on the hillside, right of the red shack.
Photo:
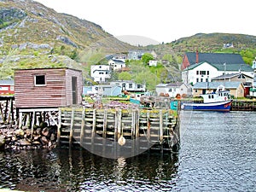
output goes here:
<path id="1" fill-rule="evenodd" d="M 111 78 L 110 66 L 92 65 L 90 66 L 90 77 L 96 82 L 106 82 Z"/>

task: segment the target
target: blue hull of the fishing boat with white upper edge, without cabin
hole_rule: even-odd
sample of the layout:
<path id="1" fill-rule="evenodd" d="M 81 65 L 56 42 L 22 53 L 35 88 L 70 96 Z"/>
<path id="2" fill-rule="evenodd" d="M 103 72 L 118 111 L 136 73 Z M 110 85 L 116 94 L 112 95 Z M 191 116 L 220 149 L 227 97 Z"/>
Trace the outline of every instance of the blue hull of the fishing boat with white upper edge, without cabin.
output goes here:
<path id="1" fill-rule="evenodd" d="M 181 108 L 183 110 L 193 111 L 230 111 L 232 100 L 224 102 L 210 102 L 210 103 L 189 103 L 183 102 Z"/>

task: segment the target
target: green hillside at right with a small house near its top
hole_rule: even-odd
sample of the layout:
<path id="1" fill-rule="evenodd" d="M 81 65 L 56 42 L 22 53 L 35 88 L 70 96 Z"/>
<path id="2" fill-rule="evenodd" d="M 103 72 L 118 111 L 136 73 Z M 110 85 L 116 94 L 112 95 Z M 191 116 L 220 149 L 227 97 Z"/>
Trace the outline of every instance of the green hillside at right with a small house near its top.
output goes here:
<path id="1" fill-rule="evenodd" d="M 233 44 L 233 48 L 224 48 L 224 44 Z M 149 46 L 152 48 L 152 46 Z M 256 57 L 256 37 L 231 33 L 198 33 L 188 38 L 180 38 L 168 44 L 154 46 L 160 55 L 172 53 L 183 56 L 186 51 L 239 53 L 247 64 Z"/>

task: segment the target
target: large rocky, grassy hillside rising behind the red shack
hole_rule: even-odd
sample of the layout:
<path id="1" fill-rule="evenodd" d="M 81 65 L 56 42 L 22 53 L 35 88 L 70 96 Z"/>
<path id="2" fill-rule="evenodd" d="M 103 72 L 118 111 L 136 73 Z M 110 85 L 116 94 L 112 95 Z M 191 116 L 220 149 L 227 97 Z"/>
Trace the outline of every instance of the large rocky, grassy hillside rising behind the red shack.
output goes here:
<path id="1" fill-rule="evenodd" d="M 88 59 L 84 53 L 104 56 L 132 48 L 95 23 L 32 0 L 0 1 L 0 47 L 0 78 L 12 76 L 14 68 L 81 68 L 79 62 Z"/>

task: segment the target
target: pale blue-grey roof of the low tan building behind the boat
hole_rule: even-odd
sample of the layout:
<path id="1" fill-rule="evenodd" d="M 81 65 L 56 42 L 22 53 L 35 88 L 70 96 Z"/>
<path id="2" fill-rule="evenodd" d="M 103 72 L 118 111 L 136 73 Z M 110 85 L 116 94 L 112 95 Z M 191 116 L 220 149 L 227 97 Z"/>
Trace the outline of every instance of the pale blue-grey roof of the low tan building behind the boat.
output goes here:
<path id="1" fill-rule="evenodd" d="M 228 81 L 228 82 L 198 82 L 193 86 L 193 89 L 212 89 L 216 90 L 219 85 L 224 85 L 225 89 L 237 89 L 241 84 L 240 81 Z"/>

